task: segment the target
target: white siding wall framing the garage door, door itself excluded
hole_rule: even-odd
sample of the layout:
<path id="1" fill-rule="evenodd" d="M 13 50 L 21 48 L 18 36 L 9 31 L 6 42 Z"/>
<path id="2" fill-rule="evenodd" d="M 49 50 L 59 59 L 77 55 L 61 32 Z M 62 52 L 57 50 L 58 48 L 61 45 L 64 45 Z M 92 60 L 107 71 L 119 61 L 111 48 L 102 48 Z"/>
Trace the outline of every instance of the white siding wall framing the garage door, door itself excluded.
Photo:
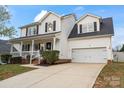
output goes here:
<path id="1" fill-rule="evenodd" d="M 69 40 L 68 43 L 68 58 L 72 59 L 73 49 L 92 49 L 92 48 L 106 48 L 107 60 L 112 60 L 112 47 L 111 47 L 111 37 L 99 37 L 99 38 L 88 38 L 88 39 L 75 39 Z"/>

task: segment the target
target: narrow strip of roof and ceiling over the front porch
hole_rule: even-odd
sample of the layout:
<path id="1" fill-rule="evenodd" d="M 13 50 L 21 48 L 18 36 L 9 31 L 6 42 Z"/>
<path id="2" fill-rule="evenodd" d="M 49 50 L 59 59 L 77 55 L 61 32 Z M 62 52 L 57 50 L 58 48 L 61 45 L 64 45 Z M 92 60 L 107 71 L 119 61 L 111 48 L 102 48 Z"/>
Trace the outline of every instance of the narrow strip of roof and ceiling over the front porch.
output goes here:
<path id="1" fill-rule="evenodd" d="M 46 40 L 46 39 L 52 39 L 56 36 L 57 33 L 60 32 L 54 32 L 54 33 L 47 33 L 47 34 L 39 34 L 39 35 L 33 35 L 33 36 L 26 36 L 26 37 L 20 37 L 9 40 L 9 42 L 20 42 L 20 41 L 31 41 L 31 40 Z"/>

